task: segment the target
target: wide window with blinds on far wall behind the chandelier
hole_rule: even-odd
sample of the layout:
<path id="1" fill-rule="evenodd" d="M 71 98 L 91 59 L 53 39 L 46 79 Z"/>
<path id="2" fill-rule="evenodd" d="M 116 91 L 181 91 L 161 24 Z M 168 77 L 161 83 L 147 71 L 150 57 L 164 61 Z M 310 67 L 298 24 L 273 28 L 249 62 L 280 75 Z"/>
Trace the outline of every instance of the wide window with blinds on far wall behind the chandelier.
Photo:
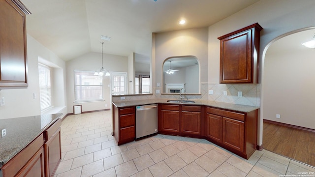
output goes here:
<path id="1" fill-rule="evenodd" d="M 74 70 L 74 102 L 103 100 L 103 77 L 94 71 Z"/>

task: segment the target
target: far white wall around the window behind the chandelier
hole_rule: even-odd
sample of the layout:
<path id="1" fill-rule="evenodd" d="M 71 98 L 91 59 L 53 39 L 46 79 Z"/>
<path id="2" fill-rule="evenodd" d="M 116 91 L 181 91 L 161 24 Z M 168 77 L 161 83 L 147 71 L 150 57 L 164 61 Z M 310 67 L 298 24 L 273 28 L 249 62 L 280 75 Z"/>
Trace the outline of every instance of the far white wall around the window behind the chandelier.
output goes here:
<path id="1" fill-rule="evenodd" d="M 110 77 L 104 76 L 103 93 L 104 101 L 74 103 L 74 76 L 73 70 L 95 71 L 102 67 L 101 53 L 91 52 L 79 58 L 71 59 L 66 62 L 66 93 L 68 113 L 73 113 L 74 105 L 82 105 L 82 112 L 110 109 Z M 103 54 L 104 69 L 116 72 L 128 72 L 128 58 Z"/>

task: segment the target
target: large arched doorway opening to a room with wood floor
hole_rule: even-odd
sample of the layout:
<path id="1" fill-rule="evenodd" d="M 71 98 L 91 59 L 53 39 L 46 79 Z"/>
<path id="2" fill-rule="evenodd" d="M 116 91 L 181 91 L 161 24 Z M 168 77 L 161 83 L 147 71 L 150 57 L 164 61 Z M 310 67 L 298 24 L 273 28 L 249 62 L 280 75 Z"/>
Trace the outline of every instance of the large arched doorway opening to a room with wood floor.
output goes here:
<path id="1" fill-rule="evenodd" d="M 264 120 L 315 129 L 315 49 L 301 45 L 314 34 L 315 29 L 293 31 L 274 40 L 264 52 L 261 102 Z M 299 133 L 299 129 L 289 131 L 280 126 L 267 128 L 264 122 L 263 147 L 315 166 L 315 133 Z"/>

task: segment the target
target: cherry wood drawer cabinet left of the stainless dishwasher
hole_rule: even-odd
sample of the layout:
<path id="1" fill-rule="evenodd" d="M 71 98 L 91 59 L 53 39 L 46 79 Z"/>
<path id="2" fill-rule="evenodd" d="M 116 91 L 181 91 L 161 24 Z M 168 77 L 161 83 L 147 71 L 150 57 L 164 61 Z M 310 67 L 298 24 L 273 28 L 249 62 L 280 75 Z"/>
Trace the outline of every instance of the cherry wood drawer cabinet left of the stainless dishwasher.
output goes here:
<path id="1" fill-rule="evenodd" d="M 135 107 L 113 109 L 113 135 L 118 145 L 135 139 Z"/>

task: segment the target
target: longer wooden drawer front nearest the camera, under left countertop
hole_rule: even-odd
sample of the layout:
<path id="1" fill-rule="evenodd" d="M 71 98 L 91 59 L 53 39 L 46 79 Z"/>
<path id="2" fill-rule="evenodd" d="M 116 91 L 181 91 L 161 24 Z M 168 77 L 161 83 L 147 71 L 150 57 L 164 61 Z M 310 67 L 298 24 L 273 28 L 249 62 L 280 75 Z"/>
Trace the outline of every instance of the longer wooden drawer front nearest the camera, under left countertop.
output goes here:
<path id="1" fill-rule="evenodd" d="M 15 176 L 43 145 L 44 136 L 40 134 L 30 145 L 4 164 L 1 169 L 3 177 Z"/>

